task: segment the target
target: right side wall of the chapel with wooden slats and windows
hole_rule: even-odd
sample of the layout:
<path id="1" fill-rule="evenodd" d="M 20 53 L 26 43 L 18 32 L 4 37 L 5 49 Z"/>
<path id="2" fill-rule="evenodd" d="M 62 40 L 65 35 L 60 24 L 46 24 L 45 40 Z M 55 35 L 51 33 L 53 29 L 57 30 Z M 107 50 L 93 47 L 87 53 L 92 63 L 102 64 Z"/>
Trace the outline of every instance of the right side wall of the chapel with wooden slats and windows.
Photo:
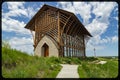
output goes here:
<path id="1" fill-rule="evenodd" d="M 64 43 L 64 46 L 65 49 L 64 49 L 64 53 L 66 53 L 66 57 L 73 57 L 73 56 L 76 56 L 76 57 L 79 57 L 79 56 L 85 56 L 83 52 L 85 52 L 85 44 L 83 42 L 83 37 L 82 35 L 77 35 L 76 32 L 74 31 L 77 31 L 77 33 L 79 33 L 80 31 L 80 27 L 79 29 L 75 28 L 75 27 L 78 27 L 79 25 L 77 24 L 77 22 L 75 20 L 70 20 L 70 17 L 71 16 L 68 16 L 66 17 L 64 14 L 60 14 L 60 22 L 62 24 L 64 24 L 62 27 L 62 36 L 65 36 L 63 39 L 63 41 L 66 41 Z M 66 23 L 66 22 L 67 23 Z M 66 26 L 66 28 L 65 28 Z M 65 30 L 65 31 L 64 31 Z M 74 37 L 71 35 L 73 33 L 76 34 L 74 35 Z"/>

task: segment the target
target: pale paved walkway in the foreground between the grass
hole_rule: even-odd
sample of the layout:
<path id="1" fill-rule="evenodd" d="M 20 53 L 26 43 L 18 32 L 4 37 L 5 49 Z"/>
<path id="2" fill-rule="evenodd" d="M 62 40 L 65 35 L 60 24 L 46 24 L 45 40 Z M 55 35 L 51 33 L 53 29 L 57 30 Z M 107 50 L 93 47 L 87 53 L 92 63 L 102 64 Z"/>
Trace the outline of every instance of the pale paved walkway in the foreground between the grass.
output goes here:
<path id="1" fill-rule="evenodd" d="M 77 68 L 78 65 L 69 65 L 69 64 L 61 64 L 63 68 L 58 73 L 56 78 L 79 78 Z"/>

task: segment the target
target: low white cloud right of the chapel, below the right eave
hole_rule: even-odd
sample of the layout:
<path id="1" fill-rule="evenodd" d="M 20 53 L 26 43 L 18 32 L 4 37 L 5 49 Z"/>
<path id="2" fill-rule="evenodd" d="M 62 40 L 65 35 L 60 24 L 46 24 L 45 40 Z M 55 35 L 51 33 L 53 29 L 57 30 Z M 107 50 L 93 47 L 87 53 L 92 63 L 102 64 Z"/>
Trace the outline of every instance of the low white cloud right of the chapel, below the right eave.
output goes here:
<path id="1" fill-rule="evenodd" d="M 101 38 L 99 35 L 91 38 L 87 43 L 87 50 L 93 50 L 94 48 L 97 50 L 105 49 L 106 44 L 112 44 L 118 42 L 118 36 L 105 37 Z M 102 45 L 101 45 L 102 44 Z"/>

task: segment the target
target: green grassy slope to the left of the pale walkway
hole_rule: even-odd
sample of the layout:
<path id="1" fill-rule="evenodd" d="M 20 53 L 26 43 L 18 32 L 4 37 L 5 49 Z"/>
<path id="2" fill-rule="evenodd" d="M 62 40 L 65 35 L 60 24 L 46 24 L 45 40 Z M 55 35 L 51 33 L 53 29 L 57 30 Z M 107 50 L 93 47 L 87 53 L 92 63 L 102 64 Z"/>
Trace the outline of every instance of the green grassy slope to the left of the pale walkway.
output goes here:
<path id="1" fill-rule="evenodd" d="M 2 47 L 2 76 L 5 78 L 55 78 L 62 68 L 52 59 Z"/>

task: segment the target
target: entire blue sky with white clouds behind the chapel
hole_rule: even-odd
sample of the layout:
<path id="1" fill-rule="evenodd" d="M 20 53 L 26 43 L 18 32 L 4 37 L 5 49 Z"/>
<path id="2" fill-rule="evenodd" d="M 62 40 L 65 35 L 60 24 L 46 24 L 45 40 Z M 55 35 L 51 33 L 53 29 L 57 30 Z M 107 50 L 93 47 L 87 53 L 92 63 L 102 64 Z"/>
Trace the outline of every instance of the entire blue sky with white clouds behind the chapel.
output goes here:
<path id="1" fill-rule="evenodd" d="M 33 54 L 33 39 L 25 25 L 48 4 L 73 12 L 93 35 L 86 44 L 86 55 L 118 56 L 118 4 L 116 2 L 4 2 L 2 40 L 12 48 Z"/>

